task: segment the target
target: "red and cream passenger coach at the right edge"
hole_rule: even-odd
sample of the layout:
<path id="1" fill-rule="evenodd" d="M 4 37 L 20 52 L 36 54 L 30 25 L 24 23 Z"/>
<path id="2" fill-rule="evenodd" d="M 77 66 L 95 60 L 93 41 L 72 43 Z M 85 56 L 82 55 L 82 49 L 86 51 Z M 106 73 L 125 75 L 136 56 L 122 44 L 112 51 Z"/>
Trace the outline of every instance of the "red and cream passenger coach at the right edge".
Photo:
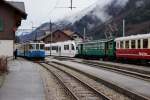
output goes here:
<path id="1" fill-rule="evenodd" d="M 116 57 L 150 61 L 150 34 L 116 38 Z"/>

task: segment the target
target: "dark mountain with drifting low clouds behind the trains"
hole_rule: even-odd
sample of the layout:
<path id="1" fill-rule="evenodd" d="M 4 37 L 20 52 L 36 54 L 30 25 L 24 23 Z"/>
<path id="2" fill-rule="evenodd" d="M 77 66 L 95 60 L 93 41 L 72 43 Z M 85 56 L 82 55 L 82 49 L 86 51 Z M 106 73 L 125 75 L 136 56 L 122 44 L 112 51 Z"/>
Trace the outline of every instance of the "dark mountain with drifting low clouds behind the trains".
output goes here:
<path id="1" fill-rule="evenodd" d="M 102 1 L 105 2 L 103 5 Z M 69 28 L 83 35 L 85 28 L 86 35 L 93 39 L 105 38 L 105 34 L 118 37 L 122 35 L 123 19 L 126 20 L 126 35 L 150 32 L 149 17 L 150 0 L 98 0 L 84 13 L 56 22 L 53 30 Z M 28 37 L 34 39 L 43 28 L 48 30 L 49 23 L 43 24 Z M 44 33 L 40 31 L 38 36 L 42 35 Z"/>

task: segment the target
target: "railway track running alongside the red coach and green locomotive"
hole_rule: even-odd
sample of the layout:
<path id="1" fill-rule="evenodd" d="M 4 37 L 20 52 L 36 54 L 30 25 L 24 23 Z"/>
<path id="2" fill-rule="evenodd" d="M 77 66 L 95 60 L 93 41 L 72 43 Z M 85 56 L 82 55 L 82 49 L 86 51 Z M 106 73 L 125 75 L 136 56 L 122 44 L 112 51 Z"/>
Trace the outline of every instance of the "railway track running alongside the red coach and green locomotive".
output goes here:
<path id="1" fill-rule="evenodd" d="M 145 81 L 150 81 L 150 71 L 146 70 L 140 70 L 137 68 L 129 68 L 129 67 L 122 67 L 117 65 L 111 65 L 111 64 L 104 64 L 104 63 L 98 63 L 98 62 L 92 62 L 89 60 L 76 60 L 73 58 L 56 58 L 58 60 L 71 60 L 72 62 L 82 63 L 85 65 L 89 65 L 96 68 L 103 68 L 105 70 L 113 71 L 119 74 L 124 74 L 128 76 L 132 76 L 134 78 L 139 78 Z"/>

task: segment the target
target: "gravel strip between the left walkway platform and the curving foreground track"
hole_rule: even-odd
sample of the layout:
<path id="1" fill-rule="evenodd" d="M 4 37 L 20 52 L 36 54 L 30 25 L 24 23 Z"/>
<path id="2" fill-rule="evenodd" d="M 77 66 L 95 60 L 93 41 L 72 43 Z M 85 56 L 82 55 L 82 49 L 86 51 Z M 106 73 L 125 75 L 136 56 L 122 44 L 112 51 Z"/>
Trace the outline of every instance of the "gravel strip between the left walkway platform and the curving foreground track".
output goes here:
<path id="1" fill-rule="evenodd" d="M 42 67 L 39 67 L 39 71 L 44 82 L 47 100 L 72 100 L 64 91 L 63 86 L 50 72 Z"/>

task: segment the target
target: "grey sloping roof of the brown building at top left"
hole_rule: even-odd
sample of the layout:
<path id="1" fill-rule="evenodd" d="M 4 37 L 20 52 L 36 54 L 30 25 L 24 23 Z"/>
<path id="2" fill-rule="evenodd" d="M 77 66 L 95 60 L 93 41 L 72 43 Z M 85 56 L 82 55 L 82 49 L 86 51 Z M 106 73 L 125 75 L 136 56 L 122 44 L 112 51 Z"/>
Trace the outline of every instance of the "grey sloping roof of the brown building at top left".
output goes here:
<path id="1" fill-rule="evenodd" d="M 9 5 L 10 7 L 18 11 L 22 15 L 22 18 L 24 19 L 27 18 L 24 2 L 14 2 L 14 1 L 5 1 L 5 0 L 2 0 L 2 2 L 4 2 L 5 4 Z"/>

